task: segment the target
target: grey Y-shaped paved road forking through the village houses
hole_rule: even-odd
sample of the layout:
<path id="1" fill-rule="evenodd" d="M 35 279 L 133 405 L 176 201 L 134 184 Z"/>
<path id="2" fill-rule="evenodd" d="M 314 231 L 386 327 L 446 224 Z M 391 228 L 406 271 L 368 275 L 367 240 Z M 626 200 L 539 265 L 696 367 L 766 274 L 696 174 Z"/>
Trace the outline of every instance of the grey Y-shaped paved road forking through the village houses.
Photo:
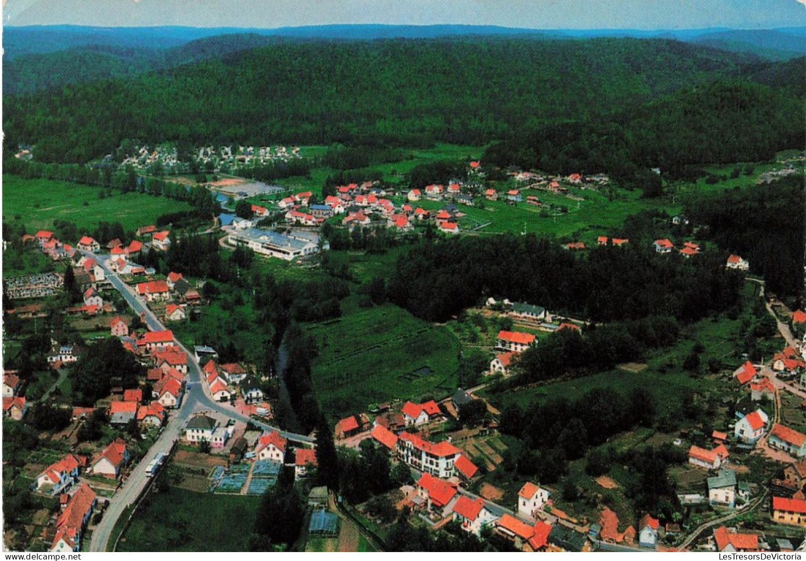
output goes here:
<path id="1" fill-rule="evenodd" d="M 118 290 L 123 295 L 131 309 L 135 314 L 145 314 L 145 323 L 150 330 L 164 330 L 165 326 L 160 322 L 156 315 L 149 310 L 145 301 L 135 294 L 129 285 L 120 280 L 114 272 L 109 268 L 109 256 L 93 255 L 89 252 L 82 251 L 85 256 L 92 257 L 104 269 L 106 279 L 110 281 L 114 289 Z M 143 457 L 141 462 L 132 467 L 131 474 L 128 479 L 123 483 L 121 488 L 115 492 L 114 497 L 109 501 L 106 512 L 103 515 L 101 522 L 95 527 L 92 534 L 92 541 L 89 544 L 89 551 L 106 551 L 109 540 L 112 534 L 112 529 L 115 522 L 123 514 L 123 510 L 128 505 L 131 505 L 139 496 L 140 492 L 145 488 L 148 478 L 145 475 L 145 470 L 140 466 L 147 465 L 158 453 L 167 454 L 170 451 L 174 441 L 179 438 L 182 429 L 188 419 L 193 416 L 193 413 L 200 411 L 215 411 L 222 413 L 227 417 L 234 418 L 239 421 L 251 421 L 263 430 L 276 430 L 280 432 L 285 438 L 299 443 L 314 443 L 314 438 L 310 438 L 305 434 L 289 433 L 285 430 L 280 430 L 275 426 L 268 425 L 264 422 L 258 422 L 254 419 L 248 418 L 246 415 L 239 413 L 229 403 L 221 403 L 214 401 L 210 394 L 210 389 L 207 384 L 203 382 L 202 368 L 199 366 L 196 357 L 192 352 L 180 342 L 176 342 L 179 347 L 188 355 L 188 382 L 185 388 L 185 395 L 182 397 L 179 409 L 172 412 L 168 420 L 168 424 L 162 430 L 160 437 L 157 438 L 156 443 L 151 447 L 147 454 Z"/>

